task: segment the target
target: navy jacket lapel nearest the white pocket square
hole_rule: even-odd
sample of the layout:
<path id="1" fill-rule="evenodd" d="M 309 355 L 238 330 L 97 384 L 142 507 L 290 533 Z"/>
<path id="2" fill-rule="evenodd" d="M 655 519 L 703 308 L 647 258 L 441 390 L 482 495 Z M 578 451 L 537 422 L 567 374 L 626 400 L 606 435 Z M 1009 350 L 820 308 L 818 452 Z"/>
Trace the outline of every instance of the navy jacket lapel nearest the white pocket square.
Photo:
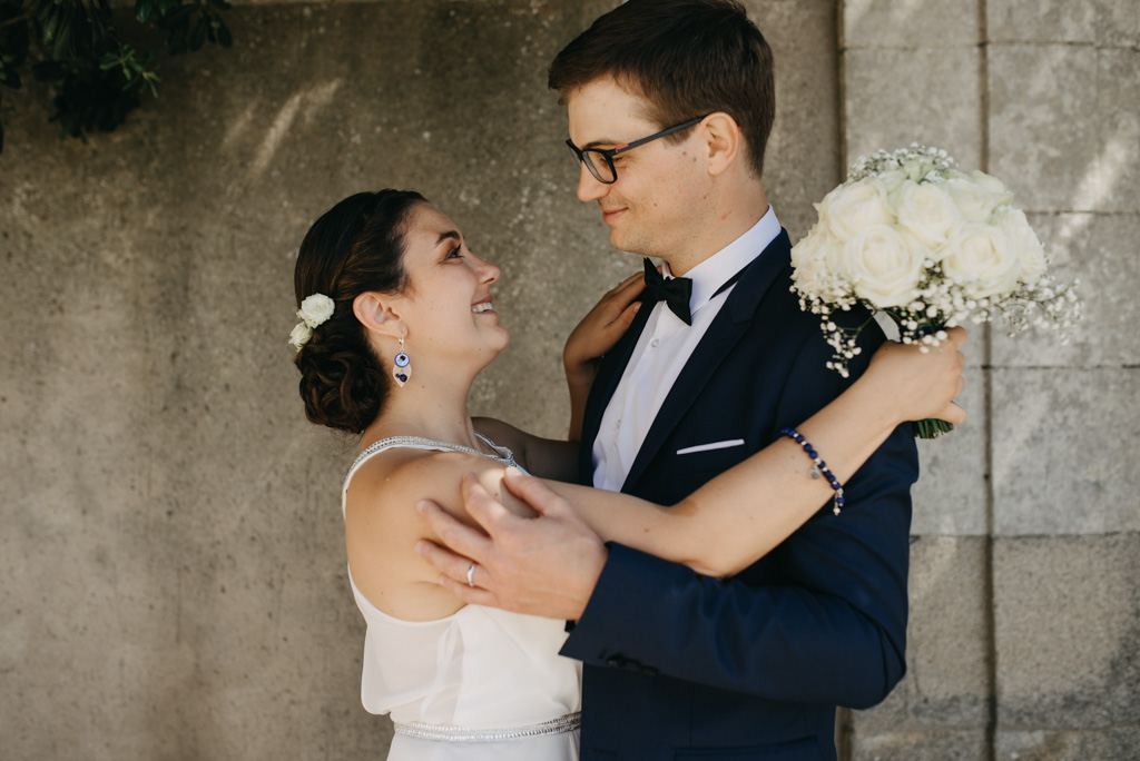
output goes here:
<path id="1" fill-rule="evenodd" d="M 689 361 L 685 362 L 684 369 L 681 370 L 681 375 L 677 376 L 673 388 L 665 398 L 661 409 L 658 410 L 657 417 L 653 418 L 653 425 L 645 434 L 645 441 L 642 443 L 637 457 L 634 458 L 634 464 L 621 486 L 622 491 L 627 491 L 637 483 L 637 480 L 661 449 L 666 437 L 681 422 L 732 347 L 751 327 L 764 294 L 788 267 L 790 252 L 791 243 L 788 238 L 788 231 L 781 229 L 780 235 L 768 244 L 764 253 L 757 256 L 744 270 L 740 281 L 728 294 L 728 300 L 720 308 L 700 343 L 697 344 Z M 638 333 L 641 332 L 638 330 Z M 628 360 L 627 353 L 626 361 Z M 622 363 L 622 368 L 625 368 L 625 363 Z M 606 402 L 612 395 L 613 390 L 610 388 Z M 596 433 L 595 426 L 594 434 L 596 435 Z M 593 442 L 593 439 L 591 441 Z"/>

